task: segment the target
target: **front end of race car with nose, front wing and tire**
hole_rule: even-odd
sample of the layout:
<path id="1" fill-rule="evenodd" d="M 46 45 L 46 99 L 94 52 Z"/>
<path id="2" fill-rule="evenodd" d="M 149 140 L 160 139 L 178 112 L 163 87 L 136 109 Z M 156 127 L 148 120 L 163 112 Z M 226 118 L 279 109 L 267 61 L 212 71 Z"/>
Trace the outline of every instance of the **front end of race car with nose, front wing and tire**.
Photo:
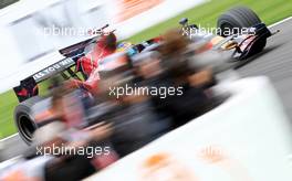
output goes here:
<path id="1" fill-rule="evenodd" d="M 243 61 L 261 52 L 267 39 L 278 32 L 271 33 L 260 18 L 246 7 L 237 7 L 221 14 L 215 33 L 188 24 L 187 18 L 179 23 L 182 25 L 182 35 L 201 46 L 199 53 L 209 50 L 230 53 L 231 61 Z"/>

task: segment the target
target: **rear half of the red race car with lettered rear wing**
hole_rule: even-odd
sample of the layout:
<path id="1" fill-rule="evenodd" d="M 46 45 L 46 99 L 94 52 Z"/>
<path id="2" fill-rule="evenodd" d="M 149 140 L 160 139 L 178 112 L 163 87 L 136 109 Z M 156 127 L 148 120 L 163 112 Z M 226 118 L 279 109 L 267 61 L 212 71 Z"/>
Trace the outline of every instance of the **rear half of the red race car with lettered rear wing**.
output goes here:
<path id="1" fill-rule="evenodd" d="M 69 83 L 69 87 L 82 89 L 83 96 L 88 98 L 92 92 L 97 89 L 96 84 L 100 79 L 100 72 L 114 70 L 121 65 L 131 66 L 128 64 L 129 56 L 142 52 L 147 45 L 158 41 L 157 39 L 152 39 L 137 45 L 122 42 L 116 45 L 115 51 L 108 51 L 104 56 L 98 56 L 96 60 L 86 58 L 86 55 L 92 55 L 91 53 L 96 47 L 98 47 L 98 51 L 105 52 L 105 49 L 101 47 L 100 44 L 103 43 L 102 41 L 107 41 L 104 40 L 105 36 L 111 33 L 113 35 L 113 31 L 104 31 L 107 26 L 108 24 L 96 30 L 97 35 L 92 39 L 59 50 L 58 54 L 62 54 L 64 58 L 22 79 L 19 86 L 13 87 L 20 103 L 14 109 L 14 121 L 20 137 L 28 145 L 32 142 L 34 130 L 50 121 L 48 118 L 41 121 L 35 119 L 38 113 L 45 111 L 45 109 L 51 107 L 50 96 L 39 96 L 38 84 L 52 77 L 62 77 L 63 82 Z M 95 62 L 98 64 L 96 67 L 93 65 Z M 40 107 L 42 108 L 39 109 Z M 86 117 L 86 119 L 90 119 L 87 123 L 92 123 L 91 120 L 94 120 L 96 116 L 101 117 L 102 115 L 101 113 L 96 115 L 93 110 L 91 113 L 93 114 Z"/>

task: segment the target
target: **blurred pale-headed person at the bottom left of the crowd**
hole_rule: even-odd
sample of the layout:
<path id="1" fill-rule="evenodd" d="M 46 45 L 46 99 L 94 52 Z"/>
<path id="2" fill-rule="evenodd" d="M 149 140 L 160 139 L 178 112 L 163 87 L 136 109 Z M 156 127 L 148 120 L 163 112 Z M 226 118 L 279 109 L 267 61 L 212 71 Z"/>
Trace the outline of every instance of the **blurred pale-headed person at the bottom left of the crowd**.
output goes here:
<path id="1" fill-rule="evenodd" d="M 88 177 L 96 170 L 101 170 L 117 160 L 116 155 L 112 155 L 112 148 L 105 150 L 102 142 L 96 145 L 96 141 L 107 138 L 111 132 L 109 125 L 100 125 L 80 131 L 67 129 L 63 123 L 58 120 L 50 123 L 34 132 L 35 150 L 30 157 L 27 157 L 28 160 L 22 163 L 22 167 L 17 168 L 7 178 L 58 181 L 63 180 L 64 177 L 66 180 L 81 180 Z M 87 147 L 94 148 L 96 146 L 104 149 L 102 151 L 109 151 L 109 155 L 95 156 L 96 152 L 80 155 L 69 151 L 73 148 L 86 148 L 87 150 Z"/>

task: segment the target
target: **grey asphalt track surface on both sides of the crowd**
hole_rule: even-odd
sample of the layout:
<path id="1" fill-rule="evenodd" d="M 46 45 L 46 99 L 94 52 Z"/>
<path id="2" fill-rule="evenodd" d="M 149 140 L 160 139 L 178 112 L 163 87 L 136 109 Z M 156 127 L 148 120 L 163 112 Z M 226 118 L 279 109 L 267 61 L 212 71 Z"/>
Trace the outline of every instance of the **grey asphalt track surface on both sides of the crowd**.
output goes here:
<path id="1" fill-rule="evenodd" d="M 263 52 L 239 63 L 237 71 L 241 77 L 268 76 L 292 120 L 292 18 L 270 29 L 280 32 L 268 40 Z M 28 148 L 18 135 L 2 142 L 4 149 L 0 155 L 0 161 L 21 155 Z"/>

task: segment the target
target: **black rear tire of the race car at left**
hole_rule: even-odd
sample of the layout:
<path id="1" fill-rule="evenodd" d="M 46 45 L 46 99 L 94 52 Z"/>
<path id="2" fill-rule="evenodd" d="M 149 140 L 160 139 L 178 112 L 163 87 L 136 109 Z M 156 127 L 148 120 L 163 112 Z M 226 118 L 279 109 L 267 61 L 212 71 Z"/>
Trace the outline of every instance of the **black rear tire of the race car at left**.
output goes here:
<path id="1" fill-rule="evenodd" d="M 31 108 L 35 103 L 40 100 L 42 100 L 42 98 L 39 96 L 31 97 L 20 103 L 14 109 L 15 126 L 18 128 L 20 137 L 27 145 L 31 145 L 32 135 L 38 129 L 38 126 L 31 115 Z"/>

